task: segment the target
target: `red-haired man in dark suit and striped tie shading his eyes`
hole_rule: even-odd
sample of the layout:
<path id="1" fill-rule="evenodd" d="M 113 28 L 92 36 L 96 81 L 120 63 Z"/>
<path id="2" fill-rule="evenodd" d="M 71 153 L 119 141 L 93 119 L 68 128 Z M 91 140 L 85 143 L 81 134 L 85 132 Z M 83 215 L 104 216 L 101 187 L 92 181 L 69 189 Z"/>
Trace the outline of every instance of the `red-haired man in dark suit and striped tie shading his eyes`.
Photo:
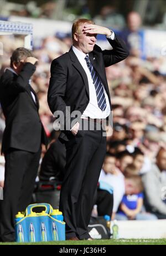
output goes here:
<path id="1" fill-rule="evenodd" d="M 97 33 L 107 37 L 113 50 L 102 51 L 95 45 Z M 51 63 L 48 104 L 53 113 L 58 111 L 54 115 L 60 120 L 60 140 L 66 146 L 66 172 L 60 194 L 66 239 L 90 240 L 87 226 L 106 154 L 102 120 L 111 111 L 105 67 L 124 60 L 128 51 L 110 29 L 88 19 L 72 25 L 72 41 L 70 51 Z"/>

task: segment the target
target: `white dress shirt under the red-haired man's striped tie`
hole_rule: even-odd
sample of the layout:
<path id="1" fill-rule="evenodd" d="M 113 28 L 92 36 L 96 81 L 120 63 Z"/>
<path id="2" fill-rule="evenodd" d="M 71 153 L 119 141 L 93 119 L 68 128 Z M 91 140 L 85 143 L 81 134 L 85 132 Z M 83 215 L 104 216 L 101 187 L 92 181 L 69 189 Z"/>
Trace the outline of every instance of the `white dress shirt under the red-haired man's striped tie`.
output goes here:
<path id="1" fill-rule="evenodd" d="M 110 38 L 110 39 L 114 40 L 115 39 L 115 34 L 112 32 L 111 36 L 109 36 L 107 38 Z M 107 95 L 107 92 L 105 90 L 105 87 L 103 86 L 103 91 L 105 93 L 105 98 L 106 98 L 106 109 L 102 111 L 100 109 L 100 107 L 98 107 L 94 82 L 92 80 L 91 73 L 89 71 L 89 68 L 87 67 L 87 63 L 86 63 L 86 60 L 85 60 L 85 56 L 88 55 L 88 54 L 85 54 L 84 52 L 81 52 L 75 46 L 72 46 L 72 50 L 74 51 L 74 53 L 75 53 L 77 59 L 79 60 L 81 66 L 84 68 L 85 73 L 87 75 L 87 80 L 88 80 L 88 83 L 89 83 L 90 100 L 89 100 L 89 104 L 87 105 L 87 107 L 86 107 L 85 111 L 83 112 L 81 118 L 90 117 L 92 119 L 105 119 L 108 115 L 110 115 L 110 111 L 111 111 L 110 102 L 108 100 L 108 95 Z"/>

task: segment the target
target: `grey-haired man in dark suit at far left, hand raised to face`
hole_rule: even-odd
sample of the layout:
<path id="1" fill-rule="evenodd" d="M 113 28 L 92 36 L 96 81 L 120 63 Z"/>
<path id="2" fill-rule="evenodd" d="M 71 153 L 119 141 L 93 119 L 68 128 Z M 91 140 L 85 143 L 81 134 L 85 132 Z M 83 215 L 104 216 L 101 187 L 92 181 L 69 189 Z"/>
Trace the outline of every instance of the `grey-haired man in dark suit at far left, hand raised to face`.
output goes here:
<path id="1" fill-rule="evenodd" d="M 14 216 L 31 200 L 37 176 L 41 144 L 46 135 L 38 114 L 37 95 L 29 84 L 37 58 L 20 47 L 11 57 L 0 80 L 0 102 L 6 119 L 2 152 L 6 160 L 4 196 L 0 203 L 0 240 L 12 242 Z"/>

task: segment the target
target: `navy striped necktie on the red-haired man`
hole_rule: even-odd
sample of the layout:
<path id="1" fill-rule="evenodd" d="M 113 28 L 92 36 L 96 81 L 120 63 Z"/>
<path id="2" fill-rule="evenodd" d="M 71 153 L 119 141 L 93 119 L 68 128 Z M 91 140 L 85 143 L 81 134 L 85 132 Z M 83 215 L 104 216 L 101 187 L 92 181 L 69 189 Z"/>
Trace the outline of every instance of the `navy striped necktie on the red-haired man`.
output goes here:
<path id="1" fill-rule="evenodd" d="M 95 86 L 98 107 L 100 107 L 100 109 L 103 111 L 106 109 L 106 97 L 103 91 L 103 85 L 100 81 L 100 78 L 97 76 L 97 73 L 95 72 L 93 65 L 89 60 L 88 55 L 85 56 L 85 60 Z"/>

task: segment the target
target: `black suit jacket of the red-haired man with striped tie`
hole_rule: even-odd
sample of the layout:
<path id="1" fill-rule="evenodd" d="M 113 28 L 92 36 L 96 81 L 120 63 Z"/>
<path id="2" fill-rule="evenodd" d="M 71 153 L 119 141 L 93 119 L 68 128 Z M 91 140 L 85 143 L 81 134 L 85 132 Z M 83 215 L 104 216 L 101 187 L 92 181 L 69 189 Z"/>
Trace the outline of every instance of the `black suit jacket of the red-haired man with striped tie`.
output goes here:
<path id="1" fill-rule="evenodd" d="M 95 45 L 94 50 L 89 53 L 89 58 L 105 87 L 111 106 L 105 67 L 124 60 L 128 56 L 128 50 L 125 43 L 117 36 L 115 40 L 108 39 L 108 42 L 110 42 L 113 50 L 102 51 L 100 47 Z M 48 104 L 53 114 L 57 110 L 63 111 L 65 116 L 64 130 L 67 130 L 67 125 L 71 129 L 74 125 L 72 121 L 75 119 L 75 117 L 70 117 L 69 113 L 66 114 L 66 106 L 70 106 L 70 112 L 77 110 L 82 114 L 89 104 L 87 76 L 72 48 L 51 63 Z M 76 122 L 77 120 L 75 120 Z M 62 120 L 61 123 L 63 123 Z M 66 131 L 65 134 L 67 135 Z M 61 132 L 60 138 L 68 140 L 63 132 Z"/>

